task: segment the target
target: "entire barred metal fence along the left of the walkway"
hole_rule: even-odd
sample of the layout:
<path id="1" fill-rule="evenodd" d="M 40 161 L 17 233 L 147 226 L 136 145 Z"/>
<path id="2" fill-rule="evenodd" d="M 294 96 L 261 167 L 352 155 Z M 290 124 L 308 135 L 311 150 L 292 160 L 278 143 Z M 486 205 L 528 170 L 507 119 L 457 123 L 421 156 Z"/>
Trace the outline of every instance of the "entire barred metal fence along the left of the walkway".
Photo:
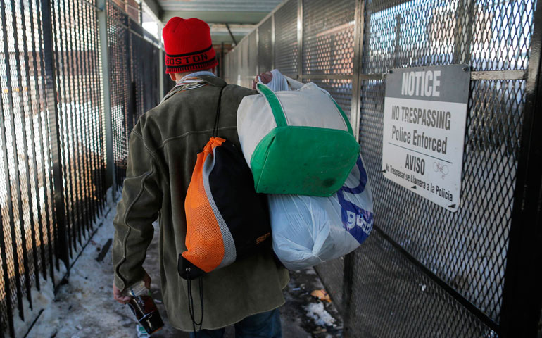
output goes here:
<path id="1" fill-rule="evenodd" d="M 106 189 L 122 186 L 130 130 L 163 96 L 162 51 L 112 1 L 0 11 L 0 332 L 15 337 L 26 331 L 14 321 L 35 319 L 32 293 L 69 273 L 110 208 Z"/>

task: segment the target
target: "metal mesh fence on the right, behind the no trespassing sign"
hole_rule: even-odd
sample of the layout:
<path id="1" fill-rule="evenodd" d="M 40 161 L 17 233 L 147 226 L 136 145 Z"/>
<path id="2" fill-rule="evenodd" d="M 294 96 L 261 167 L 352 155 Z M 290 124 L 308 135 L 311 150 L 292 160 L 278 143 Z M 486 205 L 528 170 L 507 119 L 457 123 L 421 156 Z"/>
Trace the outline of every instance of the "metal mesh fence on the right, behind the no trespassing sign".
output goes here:
<path id="1" fill-rule="evenodd" d="M 227 82 L 277 68 L 327 89 L 360 131 L 374 230 L 316 268 L 345 336 L 541 334 L 541 41 L 536 0 L 290 0 L 227 54 Z M 451 213 L 384 179 L 382 123 L 391 68 L 459 63 L 472 77 Z"/>

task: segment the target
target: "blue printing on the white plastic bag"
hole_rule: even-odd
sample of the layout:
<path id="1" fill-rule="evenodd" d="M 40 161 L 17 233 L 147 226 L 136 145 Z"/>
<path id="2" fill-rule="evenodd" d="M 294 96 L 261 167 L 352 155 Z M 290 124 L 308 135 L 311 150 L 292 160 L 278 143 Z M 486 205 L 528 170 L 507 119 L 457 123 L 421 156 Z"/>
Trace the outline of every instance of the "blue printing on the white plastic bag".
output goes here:
<path id="1" fill-rule="evenodd" d="M 365 191 L 367 172 L 365 171 L 365 168 L 363 168 L 361 156 L 358 157 L 358 161 L 356 161 L 355 164 L 358 165 L 358 169 L 360 170 L 360 184 L 355 188 L 349 188 L 344 185 L 337 192 L 337 197 L 339 198 L 339 204 L 341 204 L 341 216 L 344 229 L 361 244 L 367 239 L 372 230 L 373 213 L 363 210 L 351 201 L 346 201 L 346 199 L 344 199 L 344 192 L 361 194 Z"/>

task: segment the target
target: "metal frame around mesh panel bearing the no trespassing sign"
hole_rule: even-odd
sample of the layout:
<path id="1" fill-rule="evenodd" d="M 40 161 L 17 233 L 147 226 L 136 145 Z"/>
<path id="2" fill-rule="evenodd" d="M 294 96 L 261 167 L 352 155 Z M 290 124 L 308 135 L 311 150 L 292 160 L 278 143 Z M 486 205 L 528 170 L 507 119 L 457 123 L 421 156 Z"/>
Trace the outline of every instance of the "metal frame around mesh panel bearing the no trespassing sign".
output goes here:
<path id="1" fill-rule="evenodd" d="M 300 2 L 302 0 L 299 0 Z M 393 6 L 408 2 L 401 0 Z M 469 1 L 472 4 L 473 1 Z M 439 284 L 443 289 L 465 306 L 482 323 L 488 325 L 501 337 L 535 337 L 542 311 L 542 116 L 536 114 L 542 111 L 542 8 L 541 1 L 536 1 L 536 11 L 533 18 L 533 34 L 529 46 L 530 56 L 527 70 L 491 70 L 473 71 L 472 80 L 527 80 L 526 102 L 518 171 L 515 183 L 514 206 L 510 220 L 510 239 L 505 266 L 503 286 L 503 302 L 500 310 L 500 320 L 495 323 L 486 313 L 474 306 L 462 294 L 450 287 L 439 276 L 435 275 L 417 258 L 396 243 L 377 225 L 377 230 L 384 239 L 405 258 L 413 263 L 422 273 Z M 363 61 L 363 44 L 365 29 L 365 0 L 355 2 L 354 30 L 354 74 L 352 79 L 352 112 L 351 122 L 359 132 L 361 117 L 361 82 L 362 80 L 385 80 L 386 74 L 362 74 L 360 63 Z M 302 40 L 302 39 L 301 39 Z M 356 46 L 357 44 L 357 46 Z M 301 73 L 301 72 L 300 72 Z M 356 115 L 357 114 L 357 115 Z M 359 134 L 356 135 L 359 137 Z M 359 141 L 359 139 L 358 139 Z M 527 145 L 527 146 L 523 146 Z M 534 168 L 535 170 L 529 170 Z M 344 257 L 343 278 L 343 318 L 344 337 L 353 337 L 348 331 L 351 313 L 351 298 L 353 292 L 353 253 Z"/>

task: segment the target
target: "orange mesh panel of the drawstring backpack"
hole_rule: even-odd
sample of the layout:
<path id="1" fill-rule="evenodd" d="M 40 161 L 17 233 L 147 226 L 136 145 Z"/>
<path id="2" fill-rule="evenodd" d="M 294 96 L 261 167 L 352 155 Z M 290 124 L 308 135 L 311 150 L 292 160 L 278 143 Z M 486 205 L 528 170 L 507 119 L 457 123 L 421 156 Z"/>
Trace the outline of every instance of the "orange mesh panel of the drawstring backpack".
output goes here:
<path id="1" fill-rule="evenodd" d="M 224 240 L 203 186 L 203 164 L 215 146 L 220 146 L 222 142 L 224 139 L 211 137 L 203 152 L 198 154 L 187 198 L 184 200 L 187 214 L 187 251 L 184 251 L 182 256 L 206 273 L 222 262 Z"/>

